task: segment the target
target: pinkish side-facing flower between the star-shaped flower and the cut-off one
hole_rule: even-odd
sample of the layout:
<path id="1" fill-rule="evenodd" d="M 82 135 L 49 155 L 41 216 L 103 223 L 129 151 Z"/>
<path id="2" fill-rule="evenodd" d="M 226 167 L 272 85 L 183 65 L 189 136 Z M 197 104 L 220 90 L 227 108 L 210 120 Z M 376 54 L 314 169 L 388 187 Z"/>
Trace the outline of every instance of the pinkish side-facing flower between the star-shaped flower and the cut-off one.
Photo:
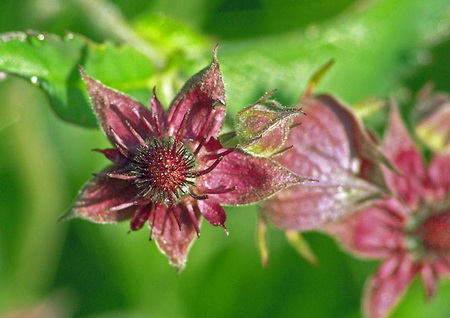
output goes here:
<path id="1" fill-rule="evenodd" d="M 385 191 L 384 157 L 351 109 L 330 95 L 307 97 L 301 106 L 306 113 L 301 129 L 291 129 L 286 145 L 292 148 L 276 161 L 318 182 L 290 187 L 264 202 L 263 216 L 283 230 L 321 228 Z"/>

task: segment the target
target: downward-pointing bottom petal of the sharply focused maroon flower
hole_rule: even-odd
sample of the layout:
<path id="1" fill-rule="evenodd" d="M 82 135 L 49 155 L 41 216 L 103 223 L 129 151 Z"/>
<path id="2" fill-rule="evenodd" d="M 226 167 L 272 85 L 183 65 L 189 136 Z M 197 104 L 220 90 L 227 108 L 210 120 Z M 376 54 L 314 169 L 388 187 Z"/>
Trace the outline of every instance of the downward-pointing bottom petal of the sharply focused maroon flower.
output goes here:
<path id="1" fill-rule="evenodd" d="M 196 215 L 196 222 L 200 222 L 200 215 Z M 178 225 L 180 221 L 181 229 Z M 157 205 L 155 218 L 151 222 L 152 237 L 161 252 L 169 258 L 171 265 L 181 272 L 187 261 L 187 254 L 197 231 L 193 221 L 189 217 L 186 206 L 173 206 L 167 208 L 164 205 Z"/>

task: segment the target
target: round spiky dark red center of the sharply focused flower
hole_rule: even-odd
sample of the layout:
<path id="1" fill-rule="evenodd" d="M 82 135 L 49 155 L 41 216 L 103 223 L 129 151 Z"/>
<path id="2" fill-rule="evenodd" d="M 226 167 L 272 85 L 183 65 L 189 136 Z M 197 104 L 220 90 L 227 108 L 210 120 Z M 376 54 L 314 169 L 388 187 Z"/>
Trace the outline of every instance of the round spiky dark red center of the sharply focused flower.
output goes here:
<path id="1" fill-rule="evenodd" d="M 135 183 L 153 202 L 176 204 L 195 185 L 195 157 L 172 137 L 152 138 L 133 158 Z"/>

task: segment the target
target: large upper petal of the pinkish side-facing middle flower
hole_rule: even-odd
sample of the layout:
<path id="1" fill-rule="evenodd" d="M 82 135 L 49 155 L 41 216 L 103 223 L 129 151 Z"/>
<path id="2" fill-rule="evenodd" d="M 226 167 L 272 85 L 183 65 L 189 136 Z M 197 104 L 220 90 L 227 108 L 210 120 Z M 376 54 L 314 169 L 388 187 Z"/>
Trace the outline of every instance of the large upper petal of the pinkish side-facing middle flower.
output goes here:
<path id="1" fill-rule="evenodd" d="M 350 108 L 329 95 L 306 100 L 300 127 L 292 129 L 277 158 L 297 174 L 337 186 L 351 186 L 356 178 L 384 188 L 381 152 Z"/>

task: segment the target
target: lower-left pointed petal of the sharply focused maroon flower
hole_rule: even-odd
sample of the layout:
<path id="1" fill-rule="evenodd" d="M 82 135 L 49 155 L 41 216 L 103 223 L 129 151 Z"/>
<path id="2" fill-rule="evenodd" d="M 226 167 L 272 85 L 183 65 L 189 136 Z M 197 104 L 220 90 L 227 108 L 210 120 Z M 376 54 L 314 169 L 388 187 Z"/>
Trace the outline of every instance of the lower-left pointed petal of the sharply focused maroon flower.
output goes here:
<path id="1" fill-rule="evenodd" d="M 106 169 L 102 175 L 112 170 Z M 109 209 L 132 203 L 137 193 L 135 185 L 129 181 L 106 176 L 94 177 L 80 190 L 73 207 L 62 220 L 82 218 L 96 223 L 115 223 L 129 219 L 136 211 L 136 206 L 120 210 Z"/>

